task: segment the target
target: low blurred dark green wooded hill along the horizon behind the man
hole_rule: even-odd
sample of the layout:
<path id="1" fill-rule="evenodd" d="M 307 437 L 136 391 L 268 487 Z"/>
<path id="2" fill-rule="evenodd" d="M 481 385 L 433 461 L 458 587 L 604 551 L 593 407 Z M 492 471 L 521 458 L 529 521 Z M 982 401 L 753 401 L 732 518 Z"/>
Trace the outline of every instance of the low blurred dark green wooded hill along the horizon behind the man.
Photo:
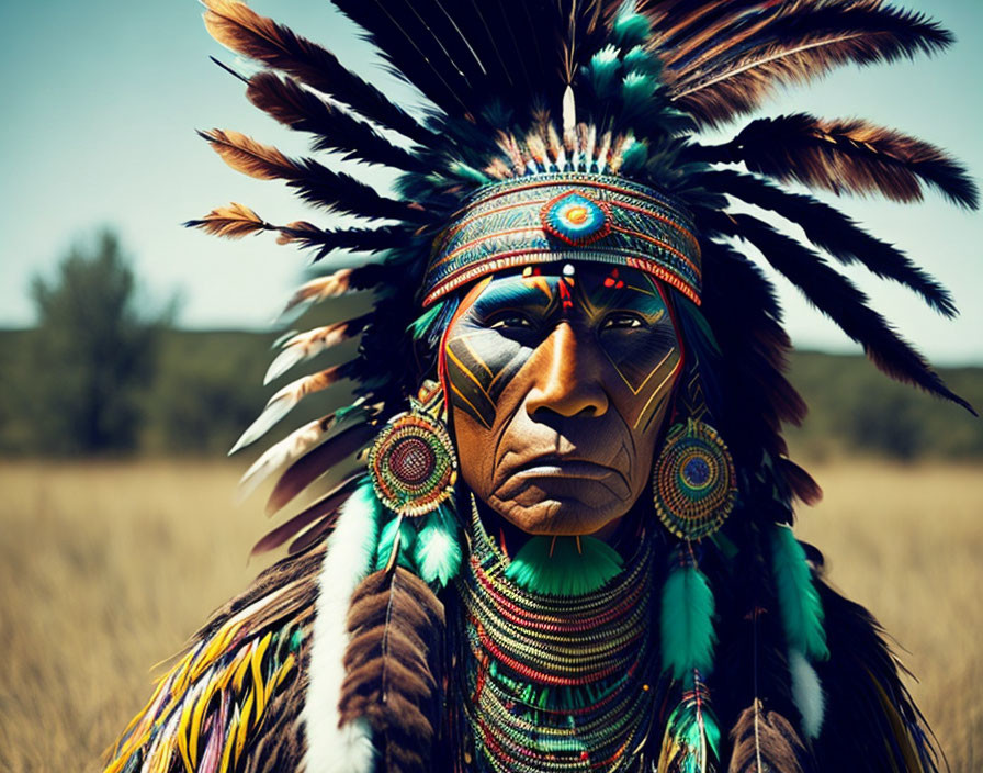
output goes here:
<path id="1" fill-rule="evenodd" d="M 31 399 L 31 335 L 0 331 L 0 453 L 45 453 L 32 433 L 32 416 L 49 408 Z M 157 377 L 140 395 L 140 450 L 224 453 L 289 380 L 261 384 L 274 339 L 272 334 L 235 331 L 167 332 Z M 983 368 L 942 368 L 939 373 L 953 391 L 983 407 Z M 57 379 L 57 363 L 35 378 Z M 849 452 L 903 460 L 983 459 L 983 421 L 891 381 L 862 357 L 795 352 L 791 379 L 810 405 L 803 427 L 787 430 L 795 457 Z M 284 419 L 284 428 L 327 413 L 347 396 L 344 390 L 340 384 L 304 401 Z M 271 436 L 283 432 L 274 429 Z"/>

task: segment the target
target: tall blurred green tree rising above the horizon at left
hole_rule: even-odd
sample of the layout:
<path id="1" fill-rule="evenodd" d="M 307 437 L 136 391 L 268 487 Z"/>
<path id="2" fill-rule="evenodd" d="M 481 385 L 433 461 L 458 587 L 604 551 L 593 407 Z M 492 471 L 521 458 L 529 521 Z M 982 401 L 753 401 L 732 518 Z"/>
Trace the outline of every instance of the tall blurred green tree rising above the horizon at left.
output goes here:
<path id="1" fill-rule="evenodd" d="M 35 277 L 38 326 L 31 404 L 37 451 L 121 452 L 136 447 L 140 393 L 154 376 L 172 313 L 148 313 L 118 237 L 75 246 L 50 281 Z"/>

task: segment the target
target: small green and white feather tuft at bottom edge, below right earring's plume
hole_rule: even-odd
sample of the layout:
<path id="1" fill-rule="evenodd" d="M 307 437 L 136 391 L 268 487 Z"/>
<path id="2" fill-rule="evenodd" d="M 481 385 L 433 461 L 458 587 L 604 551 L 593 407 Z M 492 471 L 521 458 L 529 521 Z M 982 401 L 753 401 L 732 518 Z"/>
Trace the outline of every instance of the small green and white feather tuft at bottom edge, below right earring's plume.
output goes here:
<path id="1" fill-rule="evenodd" d="M 666 722 L 658 770 L 707 773 L 716 770 L 720 757 L 720 726 L 705 691 L 686 680 L 686 695 Z"/>

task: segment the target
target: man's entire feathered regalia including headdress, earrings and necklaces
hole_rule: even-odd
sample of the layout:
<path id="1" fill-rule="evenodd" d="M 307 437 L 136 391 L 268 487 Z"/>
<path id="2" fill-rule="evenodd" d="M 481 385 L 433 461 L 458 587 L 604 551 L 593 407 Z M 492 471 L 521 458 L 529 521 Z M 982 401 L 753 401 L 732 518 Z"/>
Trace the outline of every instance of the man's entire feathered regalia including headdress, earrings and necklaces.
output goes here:
<path id="1" fill-rule="evenodd" d="M 265 382 L 329 354 L 275 391 L 234 450 L 302 400 L 325 407 L 244 477 L 255 488 L 276 474 L 268 511 L 294 509 L 255 552 L 286 546 L 287 558 L 195 637 L 109 770 L 936 771 L 878 628 L 789 528 L 793 500 L 818 489 L 787 457 L 782 424 L 805 405 L 786 378 L 791 344 L 758 262 L 890 377 L 969 407 L 836 264 L 951 316 L 947 290 L 786 186 L 902 202 L 931 189 L 968 209 L 978 191 L 944 150 L 894 130 L 743 116 L 781 86 L 933 54 L 951 35 L 883 0 L 332 0 L 420 109 L 241 2 L 203 1 L 212 35 L 258 66 L 223 67 L 315 153 L 235 131 L 202 136 L 312 209 L 274 224 L 231 203 L 189 225 L 273 232 L 324 267 L 284 312 L 313 326 L 284 337 Z M 388 168 L 392 184 L 319 152 Z M 655 277 L 682 339 L 634 558 L 573 538 L 530 539 L 512 557 L 486 550 L 440 389 L 421 388 L 475 282 L 556 260 Z M 623 582 L 643 570 L 643 585 Z M 607 606 L 652 610 L 651 626 L 609 619 Z M 585 631 L 611 640 L 586 646 Z M 644 645 L 643 663 L 630 640 Z M 539 654 L 544 642 L 561 656 L 610 652 L 624 673 Z"/>

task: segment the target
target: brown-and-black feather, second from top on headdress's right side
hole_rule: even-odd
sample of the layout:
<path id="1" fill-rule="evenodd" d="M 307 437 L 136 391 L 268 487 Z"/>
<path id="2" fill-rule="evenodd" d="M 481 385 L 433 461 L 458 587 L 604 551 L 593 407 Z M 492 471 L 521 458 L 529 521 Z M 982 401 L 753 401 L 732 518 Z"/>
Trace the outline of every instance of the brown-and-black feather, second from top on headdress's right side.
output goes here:
<path id="1" fill-rule="evenodd" d="M 692 154 L 707 163 L 744 163 L 750 171 L 836 194 L 881 193 L 922 201 L 922 187 L 967 209 L 979 206 L 976 184 L 944 150 L 859 119 L 824 121 L 807 113 L 752 121 L 728 143 Z"/>

